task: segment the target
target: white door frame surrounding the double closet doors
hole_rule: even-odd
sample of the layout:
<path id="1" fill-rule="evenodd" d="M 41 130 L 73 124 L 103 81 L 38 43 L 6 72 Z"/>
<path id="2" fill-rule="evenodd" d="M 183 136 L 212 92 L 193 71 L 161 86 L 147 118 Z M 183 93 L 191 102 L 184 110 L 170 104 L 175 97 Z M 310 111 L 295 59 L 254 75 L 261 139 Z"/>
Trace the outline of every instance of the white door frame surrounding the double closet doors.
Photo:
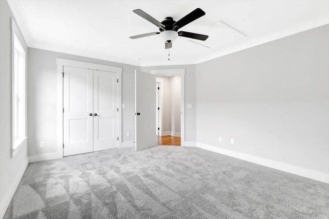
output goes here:
<path id="1" fill-rule="evenodd" d="M 121 96 L 121 75 L 122 68 L 109 65 L 101 65 L 89 62 L 80 62 L 69 59 L 56 59 L 57 63 L 57 154 L 56 158 L 63 157 L 63 66 L 87 68 L 93 70 L 111 71 L 118 74 L 118 148 L 122 147 L 122 96 Z"/>

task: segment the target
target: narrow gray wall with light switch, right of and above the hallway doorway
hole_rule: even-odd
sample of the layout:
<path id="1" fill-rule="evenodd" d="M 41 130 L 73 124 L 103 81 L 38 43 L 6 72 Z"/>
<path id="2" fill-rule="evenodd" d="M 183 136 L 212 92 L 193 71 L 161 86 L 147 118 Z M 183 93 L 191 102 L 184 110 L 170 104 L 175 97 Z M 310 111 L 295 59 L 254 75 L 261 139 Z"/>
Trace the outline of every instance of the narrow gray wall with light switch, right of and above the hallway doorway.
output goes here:
<path id="1" fill-rule="evenodd" d="M 170 65 L 141 67 L 142 71 L 151 72 L 159 69 L 185 69 L 185 141 L 195 141 L 195 65 Z M 192 108 L 187 108 L 191 103 Z"/>

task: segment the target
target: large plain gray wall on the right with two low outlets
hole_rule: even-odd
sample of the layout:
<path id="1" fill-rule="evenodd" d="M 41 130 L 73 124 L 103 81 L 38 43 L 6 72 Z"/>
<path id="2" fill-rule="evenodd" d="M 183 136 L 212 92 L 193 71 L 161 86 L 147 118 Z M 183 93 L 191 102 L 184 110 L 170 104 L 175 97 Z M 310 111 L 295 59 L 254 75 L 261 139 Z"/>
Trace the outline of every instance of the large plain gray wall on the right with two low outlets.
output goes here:
<path id="1" fill-rule="evenodd" d="M 196 141 L 328 173 L 328 28 L 198 64 Z"/>

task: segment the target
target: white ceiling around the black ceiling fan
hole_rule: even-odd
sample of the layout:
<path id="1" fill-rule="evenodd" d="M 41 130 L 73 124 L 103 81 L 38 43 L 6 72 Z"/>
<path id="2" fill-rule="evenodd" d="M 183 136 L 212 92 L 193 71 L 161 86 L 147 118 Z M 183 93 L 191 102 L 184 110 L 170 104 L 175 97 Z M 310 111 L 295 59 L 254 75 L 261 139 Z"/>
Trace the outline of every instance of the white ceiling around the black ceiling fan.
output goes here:
<path id="1" fill-rule="evenodd" d="M 29 47 L 140 66 L 195 64 L 329 23 L 329 1 L 8 2 Z M 134 9 L 161 22 L 196 8 L 206 15 L 180 30 L 209 33 L 194 41 L 207 47 L 179 36 L 168 61 L 159 35 L 129 38 L 158 31 Z"/>

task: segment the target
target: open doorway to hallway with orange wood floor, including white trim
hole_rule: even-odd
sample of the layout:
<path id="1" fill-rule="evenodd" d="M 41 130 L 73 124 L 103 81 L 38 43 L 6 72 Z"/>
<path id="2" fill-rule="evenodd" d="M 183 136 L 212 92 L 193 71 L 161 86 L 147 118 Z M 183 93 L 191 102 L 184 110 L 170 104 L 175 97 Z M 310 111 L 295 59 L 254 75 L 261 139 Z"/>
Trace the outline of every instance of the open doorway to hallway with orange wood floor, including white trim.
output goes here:
<path id="1" fill-rule="evenodd" d="M 160 145 L 185 145 L 185 69 L 151 70 L 156 75 L 156 134 Z"/>

